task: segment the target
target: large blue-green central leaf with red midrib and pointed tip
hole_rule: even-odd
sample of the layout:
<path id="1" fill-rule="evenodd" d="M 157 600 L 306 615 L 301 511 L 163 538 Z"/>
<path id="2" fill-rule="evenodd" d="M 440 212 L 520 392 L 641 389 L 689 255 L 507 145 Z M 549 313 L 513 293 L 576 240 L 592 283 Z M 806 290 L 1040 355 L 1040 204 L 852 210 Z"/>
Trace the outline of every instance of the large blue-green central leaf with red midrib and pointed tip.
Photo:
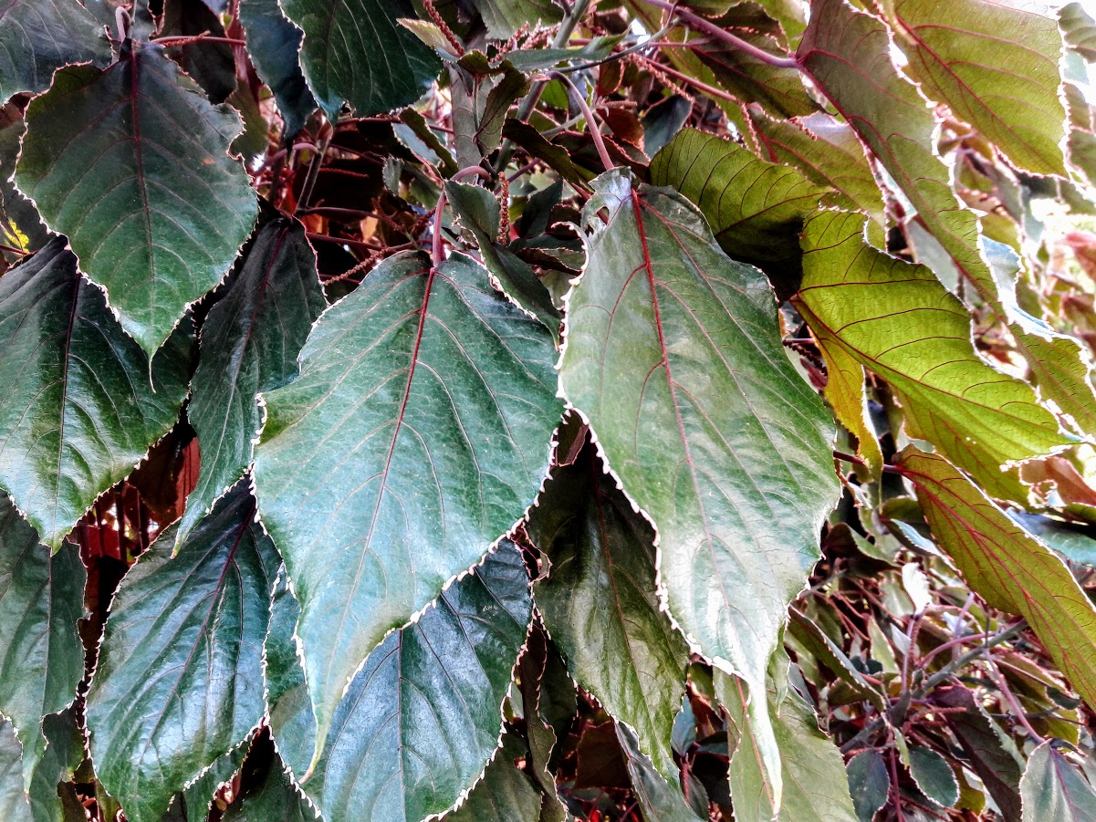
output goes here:
<path id="1" fill-rule="evenodd" d="M 301 604 L 319 745 L 366 654 L 522 517 L 561 406 L 548 330 L 463 255 L 388 258 L 300 358 L 266 395 L 255 482 Z"/>

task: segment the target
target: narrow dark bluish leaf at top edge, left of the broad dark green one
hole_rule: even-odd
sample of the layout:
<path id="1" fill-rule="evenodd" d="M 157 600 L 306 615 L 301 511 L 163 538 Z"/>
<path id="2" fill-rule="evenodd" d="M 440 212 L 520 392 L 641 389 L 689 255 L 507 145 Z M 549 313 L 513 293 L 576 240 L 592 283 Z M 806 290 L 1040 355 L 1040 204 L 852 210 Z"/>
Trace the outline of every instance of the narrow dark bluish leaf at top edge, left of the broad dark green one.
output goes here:
<path id="1" fill-rule="evenodd" d="M 288 142 L 305 127 L 317 105 L 300 70 L 302 34 L 286 19 L 277 0 L 242 0 L 240 23 L 248 56 L 274 94 L 285 123 L 283 140 Z"/>

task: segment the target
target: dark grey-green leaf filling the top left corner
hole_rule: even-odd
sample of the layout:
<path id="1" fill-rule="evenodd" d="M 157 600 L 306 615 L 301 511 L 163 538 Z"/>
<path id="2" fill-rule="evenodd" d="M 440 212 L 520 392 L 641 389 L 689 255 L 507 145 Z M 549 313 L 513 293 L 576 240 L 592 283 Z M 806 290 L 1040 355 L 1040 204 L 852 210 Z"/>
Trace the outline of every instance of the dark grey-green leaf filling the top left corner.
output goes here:
<path id="1" fill-rule="evenodd" d="M 0 103 L 45 91 L 69 64 L 110 61 L 103 30 L 77 0 L 11 0 L 0 12 Z"/>

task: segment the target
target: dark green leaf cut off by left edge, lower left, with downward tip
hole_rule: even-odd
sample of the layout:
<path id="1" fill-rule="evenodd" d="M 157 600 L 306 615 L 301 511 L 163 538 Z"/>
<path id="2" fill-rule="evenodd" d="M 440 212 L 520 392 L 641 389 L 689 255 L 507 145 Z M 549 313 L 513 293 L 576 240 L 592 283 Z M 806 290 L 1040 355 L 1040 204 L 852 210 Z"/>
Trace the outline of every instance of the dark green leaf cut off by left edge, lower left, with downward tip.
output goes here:
<path id="1" fill-rule="evenodd" d="M 0 491 L 0 713 L 22 741 L 27 788 L 46 747 L 42 718 L 71 703 L 83 677 L 77 620 L 85 580 L 77 549 L 50 557 Z"/>

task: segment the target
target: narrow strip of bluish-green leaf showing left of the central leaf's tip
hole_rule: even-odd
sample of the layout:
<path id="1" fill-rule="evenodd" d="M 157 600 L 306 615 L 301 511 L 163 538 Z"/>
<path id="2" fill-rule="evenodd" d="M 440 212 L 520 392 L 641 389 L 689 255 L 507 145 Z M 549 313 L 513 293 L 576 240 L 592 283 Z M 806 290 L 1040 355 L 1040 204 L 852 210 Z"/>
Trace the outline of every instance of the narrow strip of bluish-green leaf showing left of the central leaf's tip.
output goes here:
<path id="1" fill-rule="evenodd" d="M 271 601 L 271 626 L 264 650 L 266 703 L 271 735 L 285 767 L 298 778 L 308 772 L 316 750 L 316 716 L 300 665 L 300 643 L 294 636 L 299 617 L 300 603 L 293 595 L 283 569 Z"/>

